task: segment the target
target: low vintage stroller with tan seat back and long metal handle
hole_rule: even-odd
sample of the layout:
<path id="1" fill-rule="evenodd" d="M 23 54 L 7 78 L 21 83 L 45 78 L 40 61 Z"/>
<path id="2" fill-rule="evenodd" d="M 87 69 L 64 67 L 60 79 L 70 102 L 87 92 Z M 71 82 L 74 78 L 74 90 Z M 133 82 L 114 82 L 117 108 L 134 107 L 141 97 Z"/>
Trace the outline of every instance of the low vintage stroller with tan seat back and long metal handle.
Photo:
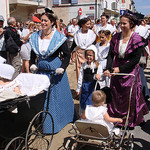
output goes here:
<path id="1" fill-rule="evenodd" d="M 132 88 L 133 88 L 135 76 L 133 74 L 123 74 L 123 73 L 118 73 L 113 75 L 133 76 L 133 82 L 129 94 L 128 113 L 125 118 L 122 118 L 122 119 L 126 119 L 124 127 L 122 129 L 116 129 L 117 126 L 116 124 L 112 129 L 112 131 L 109 132 L 107 127 L 102 124 L 77 120 L 72 125 L 72 128 L 68 131 L 70 134 L 74 136 L 71 137 L 66 142 L 65 144 L 66 150 L 79 150 L 82 149 L 82 147 L 87 145 L 95 146 L 98 149 L 109 149 L 109 150 L 111 149 L 132 150 L 133 149 L 134 136 L 132 133 L 127 132 L 127 127 L 128 127 L 129 113 L 130 113 L 131 94 L 132 94 Z"/>

